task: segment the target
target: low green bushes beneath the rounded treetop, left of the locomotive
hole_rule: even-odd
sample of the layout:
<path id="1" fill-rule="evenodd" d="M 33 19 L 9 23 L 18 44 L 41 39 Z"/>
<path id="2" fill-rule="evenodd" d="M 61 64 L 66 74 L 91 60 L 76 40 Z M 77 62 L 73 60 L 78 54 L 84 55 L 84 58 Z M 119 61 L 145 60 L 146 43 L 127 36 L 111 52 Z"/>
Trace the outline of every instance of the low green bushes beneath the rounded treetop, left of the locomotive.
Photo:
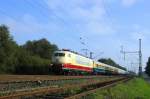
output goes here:
<path id="1" fill-rule="evenodd" d="M 39 56 L 31 56 L 29 52 L 20 49 L 18 53 L 18 65 L 15 67 L 17 74 L 50 74 L 50 60 Z"/>

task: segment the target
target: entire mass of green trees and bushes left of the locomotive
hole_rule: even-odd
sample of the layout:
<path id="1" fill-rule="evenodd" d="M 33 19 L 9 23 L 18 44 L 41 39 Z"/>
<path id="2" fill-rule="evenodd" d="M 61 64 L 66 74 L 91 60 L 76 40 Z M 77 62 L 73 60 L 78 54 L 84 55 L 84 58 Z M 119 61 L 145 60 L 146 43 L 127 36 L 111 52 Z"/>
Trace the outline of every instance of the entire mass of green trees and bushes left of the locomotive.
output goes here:
<path id="1" fill-rule="evenodd" d="M 0 26 L 0 73 L 49 74 L 51 55 L 58 47 L 46 39 L 28 41 L 19 46 L 8 27 Z"/>

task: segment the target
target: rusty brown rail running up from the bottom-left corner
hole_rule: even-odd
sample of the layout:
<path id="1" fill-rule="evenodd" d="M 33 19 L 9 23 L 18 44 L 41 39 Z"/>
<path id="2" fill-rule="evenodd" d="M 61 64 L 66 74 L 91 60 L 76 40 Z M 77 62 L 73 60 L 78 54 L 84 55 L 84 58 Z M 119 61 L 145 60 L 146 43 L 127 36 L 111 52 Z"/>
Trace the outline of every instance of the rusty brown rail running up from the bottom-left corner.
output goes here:
<path id="1" fill-rule="evenodd" d="M 49 93 L 61 93 L 61 92 L 64 92 L 65 90 L 68 90 L 68 89 L 74 89 L 77 87 L 86 88 L 86 87 L 93 86 L 93 85 L 109 83 L 111 81 L 116 81 L 119 79 L 123 79 L 123 77 L 115 78 L 115 79 L 111 78 L 111 79 L 103 81 L 103 82 L 93 81 L 93 82 L 89 82 L 88 84 L 64 86 L 61 88 L 52 88 L 52 87 L 37 88 L 34 90 L 30 90 L 30 91 L 28 90 L 26 92 L 20 91 L 18 93 L 14 93 L 14 94 L 11 94 L 8 96 L 2 96 L 2 97 L 0 97 L 0 99 L 14 99 L 14 98 L 27 97 L 27 96 L 38 96 L 38 95 L 49 94 Z"/>

